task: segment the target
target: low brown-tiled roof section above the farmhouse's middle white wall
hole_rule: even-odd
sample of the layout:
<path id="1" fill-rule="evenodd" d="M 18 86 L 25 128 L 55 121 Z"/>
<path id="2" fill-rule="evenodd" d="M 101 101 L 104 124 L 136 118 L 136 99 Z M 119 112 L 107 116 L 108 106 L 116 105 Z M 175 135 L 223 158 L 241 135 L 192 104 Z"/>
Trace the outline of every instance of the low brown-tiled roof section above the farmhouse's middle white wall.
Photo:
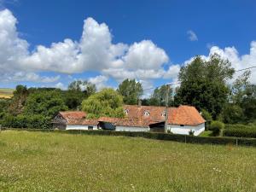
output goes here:
<path id="1" fill-rule="evenodd" d="M 119 119 L 116 126 L 131 126 L 131 127 L 148 127 L 150 124 L 149 119 Z"/>

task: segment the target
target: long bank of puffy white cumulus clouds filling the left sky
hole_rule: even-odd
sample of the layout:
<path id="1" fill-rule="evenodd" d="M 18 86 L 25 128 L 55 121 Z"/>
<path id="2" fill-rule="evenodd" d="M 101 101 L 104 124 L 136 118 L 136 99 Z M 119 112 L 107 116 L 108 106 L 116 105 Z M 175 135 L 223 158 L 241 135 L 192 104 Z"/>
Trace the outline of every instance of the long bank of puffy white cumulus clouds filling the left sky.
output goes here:
<path id="1" fill-rule="evenodd" d="M 8 9 L 0 11 L 1 73 L 99 71 L 117 80 L 157 79 L 164 75 L 162 66 L 169 61 L 165 50 L 150 40 L 113 44 L 108 26 L 93 18 L 84 20 L 79 42 L 66 38 L 49 47 L 38 45 L 32 52 L 26 40 L 19 37 L 16 24 Z"/>

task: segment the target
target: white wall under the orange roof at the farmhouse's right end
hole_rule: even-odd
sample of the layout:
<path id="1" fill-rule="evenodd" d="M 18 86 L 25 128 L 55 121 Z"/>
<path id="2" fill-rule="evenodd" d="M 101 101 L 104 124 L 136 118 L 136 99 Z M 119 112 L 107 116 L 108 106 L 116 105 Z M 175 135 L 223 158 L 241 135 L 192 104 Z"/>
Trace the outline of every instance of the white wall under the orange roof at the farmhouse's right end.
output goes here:
<path id="1" fill-rule="evenodd" d="M 201 132 L 205 131 L 205 123 L 200 125 L 168 125 L 168 130 L 172 131 L 174 134 L 189 135 L 189 131 L 195 131 L 194 135 L 198 136 Z"/>

